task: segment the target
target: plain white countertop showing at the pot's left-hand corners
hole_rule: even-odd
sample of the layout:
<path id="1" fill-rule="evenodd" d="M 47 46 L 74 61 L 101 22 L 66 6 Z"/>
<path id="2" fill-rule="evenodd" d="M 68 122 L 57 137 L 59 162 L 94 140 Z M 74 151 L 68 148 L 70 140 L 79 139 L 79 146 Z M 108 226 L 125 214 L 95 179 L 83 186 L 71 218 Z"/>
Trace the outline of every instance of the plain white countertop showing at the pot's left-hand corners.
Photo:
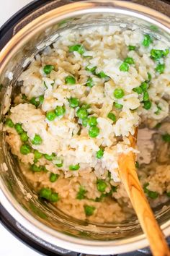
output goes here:
<path id="1" fill-rule="evenodd" d="M 0 27 L 12 15 L 31 0 L 0 0 Z M 40 256 L 7 231 L 0 223 L 0 255 L 1 256 Z"/>

